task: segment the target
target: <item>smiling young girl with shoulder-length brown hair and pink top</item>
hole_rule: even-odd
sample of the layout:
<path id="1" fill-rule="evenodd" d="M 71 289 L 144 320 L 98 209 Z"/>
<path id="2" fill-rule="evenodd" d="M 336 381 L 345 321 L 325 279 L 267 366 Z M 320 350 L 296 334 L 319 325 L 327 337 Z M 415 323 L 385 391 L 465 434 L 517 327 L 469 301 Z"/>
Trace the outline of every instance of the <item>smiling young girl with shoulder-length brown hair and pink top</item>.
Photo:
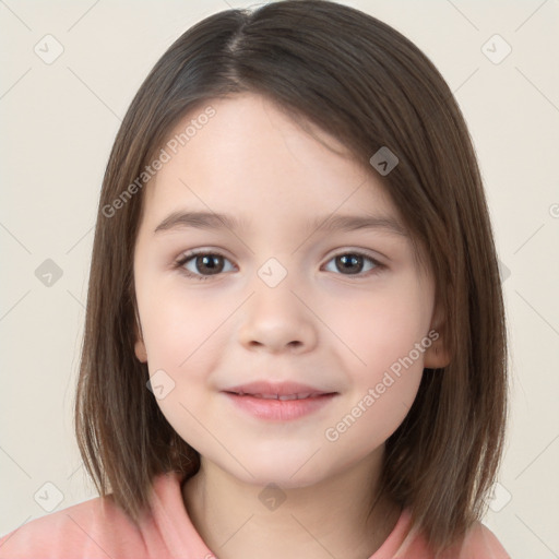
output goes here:
<path id="1" fill-rule="evenodd" d="M 214 14 L 106 169 L 76 391 L 100 497 L 0 557 L 506 558 L 506 328 L 475 153 L 355 9 Z"/>

